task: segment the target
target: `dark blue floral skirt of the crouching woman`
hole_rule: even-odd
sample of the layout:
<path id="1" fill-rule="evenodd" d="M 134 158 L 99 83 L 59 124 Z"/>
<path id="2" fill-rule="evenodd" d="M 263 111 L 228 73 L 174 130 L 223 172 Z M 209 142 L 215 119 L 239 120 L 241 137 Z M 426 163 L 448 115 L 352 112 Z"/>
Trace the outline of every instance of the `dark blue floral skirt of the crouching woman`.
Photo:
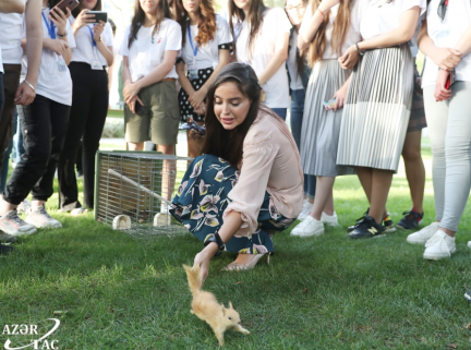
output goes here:
<path id="1" fill-rule="evenodd" d="M 212 155 L 197 157 L 183 177 L 170 214 L 204 242 L 222 226 L 222 214 L 230 203 L 228 194 L 237 184 L 239 174 L 239 170 L 221 158 Z M 271 196 L 265 192 L 257 221 L 258 228 L 252 237 L 232 237 L 226 243 L 226 251 L 273 253 L 273 233 L 283 231 L 294 219 L 281 215 Z"/>

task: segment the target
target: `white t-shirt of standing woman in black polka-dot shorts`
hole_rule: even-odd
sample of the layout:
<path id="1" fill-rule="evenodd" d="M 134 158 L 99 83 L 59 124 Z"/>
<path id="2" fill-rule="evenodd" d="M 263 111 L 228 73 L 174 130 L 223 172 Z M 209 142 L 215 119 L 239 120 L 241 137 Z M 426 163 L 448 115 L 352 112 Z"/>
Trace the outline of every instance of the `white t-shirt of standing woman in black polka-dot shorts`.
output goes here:
<path id="1" fill-rule="evenodd" d="M 205 68 L 215 69 L 219 63 L 219 46 L 224 45 L 227 46 L 224 48 L 229 49 L 229 46 L 232 44 L 232 35 L 230 34 L 229 24 L 219 14 L 216 14 L 216 27 L 214 40 L 203 45 L 202 47 L 198 47 L 196 57 L 194 57 L 193 48 L 196 48 L 197 45 L 194 39 L 198 33 L 198 29 L 197 25 L 190 25 L 193 48 L 190 44 L 190 38 L 186 31 L 185 45 L 182 47 L 181 51 L 181 58 L 188 64 L 189 70 L 202 70 Z M 195 65 L 193 65 L 193 62 L 195 62 Z"/>

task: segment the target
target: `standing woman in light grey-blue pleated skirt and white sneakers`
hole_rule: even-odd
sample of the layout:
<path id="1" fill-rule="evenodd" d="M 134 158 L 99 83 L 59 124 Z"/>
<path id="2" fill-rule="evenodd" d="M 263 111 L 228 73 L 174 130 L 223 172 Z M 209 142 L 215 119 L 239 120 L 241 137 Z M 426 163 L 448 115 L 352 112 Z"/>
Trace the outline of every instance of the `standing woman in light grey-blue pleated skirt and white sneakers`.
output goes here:
<path id="1" fill-rule="evenodd" d="M 316 195 L 310 215 L 291 236 L 324 233 L 324 224 L 338 225 L 334 209 L 336 177 L 353 173 L 351 167 L 337 165 L 337 149 L 342 107 L 351 70 L 343 70 L 338 58 L 361 40 L 360 19 L 364 9 L 360 0 L 316 0 L 307 8 L 298 45 L 309 50 L 313 67 L 306 92 L 301 134 L 301 164 L 305 173 L 317 177 Z M 335 99 L 333 109 L 325 101 Z"/>

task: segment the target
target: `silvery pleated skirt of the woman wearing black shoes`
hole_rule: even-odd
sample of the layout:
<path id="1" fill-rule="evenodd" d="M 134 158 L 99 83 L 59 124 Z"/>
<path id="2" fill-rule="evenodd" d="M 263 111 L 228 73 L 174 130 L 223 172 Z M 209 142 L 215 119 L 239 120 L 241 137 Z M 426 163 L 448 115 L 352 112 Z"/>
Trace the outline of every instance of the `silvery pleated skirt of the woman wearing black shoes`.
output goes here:
<path id="1" fill-rule="evenodd" d="M 337 164 L 397 172 L 412 104 L 407 44 L 366 51 L 347 94 Z"/>

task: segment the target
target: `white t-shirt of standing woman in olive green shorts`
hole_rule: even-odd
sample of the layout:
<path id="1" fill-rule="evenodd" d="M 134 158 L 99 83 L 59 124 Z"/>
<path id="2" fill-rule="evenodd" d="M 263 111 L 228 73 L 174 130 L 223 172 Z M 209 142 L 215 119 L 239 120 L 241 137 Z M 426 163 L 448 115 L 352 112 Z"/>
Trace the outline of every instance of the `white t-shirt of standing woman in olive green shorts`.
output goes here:
<path id="1" fill-rule="evenodd" d="M 129 58 L 131 80 L 136 82 L 150 73 L 164 60 L 165 51 L 180 51 L 182 34 L 180 24 L 173 20 L 165 19 L 159 31 L 153 36 L 154 26 L 141 27 L 137 32 L 137 39 L 131 48 L 128 47 L 131 26 L 125 31 L 119 53 Z M 166 77 L 178 79 L 173 68 Z"/>

